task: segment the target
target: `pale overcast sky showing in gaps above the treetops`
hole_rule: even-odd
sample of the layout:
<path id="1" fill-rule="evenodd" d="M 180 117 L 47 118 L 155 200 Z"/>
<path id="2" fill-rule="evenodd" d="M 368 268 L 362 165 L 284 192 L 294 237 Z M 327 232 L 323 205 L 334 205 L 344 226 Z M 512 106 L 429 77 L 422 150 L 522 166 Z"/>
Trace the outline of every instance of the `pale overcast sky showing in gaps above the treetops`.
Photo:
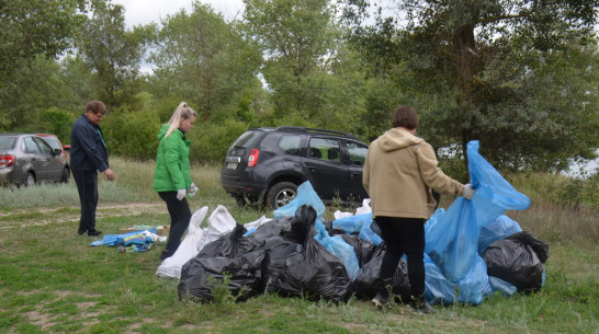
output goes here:
<path id="1" fill-rule="evenodd" d="M 191 12 L 193 0 L 113 0 L 113 3 L 125 7 L 125 23 L 128 28 L 134 25 L 159 23 L 169 14 L 184 9 Z M 242 0 L 200 0 L 210 4 L 216 12 L 223 13 L 226 21 L 241 16 Z"/>

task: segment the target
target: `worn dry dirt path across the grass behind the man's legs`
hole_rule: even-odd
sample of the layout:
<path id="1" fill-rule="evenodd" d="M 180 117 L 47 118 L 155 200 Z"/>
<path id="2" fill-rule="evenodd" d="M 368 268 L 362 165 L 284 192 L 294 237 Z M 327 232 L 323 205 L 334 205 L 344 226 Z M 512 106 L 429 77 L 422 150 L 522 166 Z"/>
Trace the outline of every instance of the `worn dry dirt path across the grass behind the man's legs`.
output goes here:
<path id="1" fill-rule="evenodd" d="M 97 218 L 136 216 L 140 214 L 165 214 L 163 203 L 99 204 Z M 0 212 L 0 230 L 15 227 L 45 226 L 57 221 L 79 221 L 79 206 L 23 208 Z"/>

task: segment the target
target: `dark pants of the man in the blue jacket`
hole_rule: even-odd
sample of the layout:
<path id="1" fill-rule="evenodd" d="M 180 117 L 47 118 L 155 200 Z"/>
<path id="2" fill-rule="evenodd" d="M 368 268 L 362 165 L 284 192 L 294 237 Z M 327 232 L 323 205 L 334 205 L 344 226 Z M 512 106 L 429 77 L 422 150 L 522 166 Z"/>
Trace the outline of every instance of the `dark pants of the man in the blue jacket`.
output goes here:
<path id="1" fill-rule="evenodd" d="M 95 233 L 95 208 L 98 207 L 98 171 L 72 171 L 77 184 L 81 218 L 79 231 L 88 234 Z"/>

